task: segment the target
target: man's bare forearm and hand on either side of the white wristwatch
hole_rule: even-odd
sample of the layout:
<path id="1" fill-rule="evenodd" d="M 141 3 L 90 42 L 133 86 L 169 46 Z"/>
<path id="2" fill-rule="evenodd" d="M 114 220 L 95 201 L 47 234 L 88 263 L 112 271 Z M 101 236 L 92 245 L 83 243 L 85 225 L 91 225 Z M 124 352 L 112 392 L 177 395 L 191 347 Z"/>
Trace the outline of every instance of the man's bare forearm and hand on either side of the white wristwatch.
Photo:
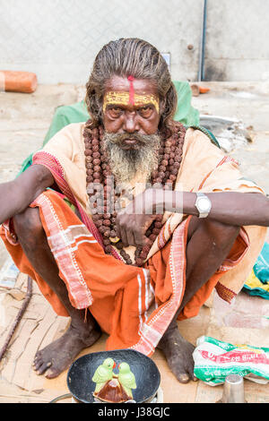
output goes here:
<path id="1" fill-rule="evenodd" d="M 262 193 L 206 193 L 212 202 L 207 219 L 242 227 L 269 227 L 269 199 Z M 117 236 L 123 245 L 144 245 L 146 229 L 154 215 L 164 211 L 199 216 L 195 207 L 196 194 L 162 189 L 147 189 L 117 214 Z"/>

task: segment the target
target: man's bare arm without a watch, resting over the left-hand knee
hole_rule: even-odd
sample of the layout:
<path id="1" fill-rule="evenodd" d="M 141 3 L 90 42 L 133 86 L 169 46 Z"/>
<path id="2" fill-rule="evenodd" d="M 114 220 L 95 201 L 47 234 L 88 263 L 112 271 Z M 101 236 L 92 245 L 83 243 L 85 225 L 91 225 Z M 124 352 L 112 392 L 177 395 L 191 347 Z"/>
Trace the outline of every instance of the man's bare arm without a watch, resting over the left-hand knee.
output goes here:
<path id="1" fill-rule="evenodd" d="M 0 185 L 0 224 L 24 211 L 53 184 L 54 178 L 48 168 L 34 165 L 13 181 Z"/>

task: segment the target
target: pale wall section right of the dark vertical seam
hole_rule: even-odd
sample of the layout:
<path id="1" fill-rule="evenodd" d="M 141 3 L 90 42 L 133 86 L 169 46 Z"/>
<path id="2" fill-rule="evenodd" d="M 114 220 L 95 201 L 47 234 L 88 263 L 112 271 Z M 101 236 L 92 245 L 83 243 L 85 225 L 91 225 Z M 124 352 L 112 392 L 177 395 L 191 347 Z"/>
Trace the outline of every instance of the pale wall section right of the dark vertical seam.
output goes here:
<path id="1" fill-rule="evenodd" d="M 204 77 L 269 81 L 269 2 L 208 0 Z"/>

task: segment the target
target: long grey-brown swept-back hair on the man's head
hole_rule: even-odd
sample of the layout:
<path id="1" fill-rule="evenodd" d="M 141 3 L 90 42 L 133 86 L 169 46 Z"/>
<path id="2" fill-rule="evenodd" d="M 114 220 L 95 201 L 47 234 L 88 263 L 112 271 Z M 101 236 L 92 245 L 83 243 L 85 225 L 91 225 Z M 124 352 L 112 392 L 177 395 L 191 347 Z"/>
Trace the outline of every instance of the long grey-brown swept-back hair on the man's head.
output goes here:
<path id="1" fill-rule="evenodd" d="M 148 79 L 155 83 L 161 103 L 159 130 L 164 134 L 169 133 L 169 126 L 178 104 L 177 90 L 161 53 L 148 42 L 136 38 L 110 41 L 96 56 L 89 82 L 86 84 L 85 101 L 91 116 L 91 127 L 102 125 L 102 102 L 106 82 L 114 75 L 132 75 L 135 79 Z"/>

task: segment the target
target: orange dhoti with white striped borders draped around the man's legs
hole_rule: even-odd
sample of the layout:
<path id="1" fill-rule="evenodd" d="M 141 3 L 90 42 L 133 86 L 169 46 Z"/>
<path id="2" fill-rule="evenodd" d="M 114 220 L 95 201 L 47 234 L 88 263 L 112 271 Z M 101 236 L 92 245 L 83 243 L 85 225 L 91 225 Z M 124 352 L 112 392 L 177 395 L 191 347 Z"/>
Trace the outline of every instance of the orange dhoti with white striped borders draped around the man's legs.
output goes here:
<path id="1" fill-rule="evenodd" d="M 77 309 L 89 309 L 100 328 L 108 333 L 107 349 L 134 348 L 151 356 L 184 296 L 187 227 L 191 217 L 178 225 L 169 242 L 142 268 L 137 268 L 104 253 L 89 228 L 58 193 L 48 190 L 30 206 L 39 208 L 70 302 Z M 18 269 L 36 280 L 56 314 L 68 316 L 59 298 L 30 265 L 9 224 L 3 224 L 0 232 Z M 179 319 L 199 312 L 213 288 L 221 286 L 221 276 L 239 264 L 248 246 L 247 233 L 241 229 L 228 258 L 195 294 Z M 235 295 L 229 288 L 225 290 L 230 291 L 230 298 Z"/>

